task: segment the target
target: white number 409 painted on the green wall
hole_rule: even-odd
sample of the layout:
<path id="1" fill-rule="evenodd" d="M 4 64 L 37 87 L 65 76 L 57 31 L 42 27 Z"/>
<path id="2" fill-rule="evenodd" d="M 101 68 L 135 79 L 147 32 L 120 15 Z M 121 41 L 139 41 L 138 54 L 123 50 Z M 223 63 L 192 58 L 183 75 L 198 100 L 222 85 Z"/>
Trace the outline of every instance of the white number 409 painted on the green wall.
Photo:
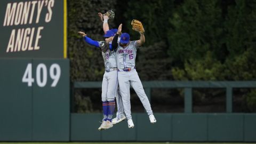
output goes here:
<path id="1" fill-rule="evenodd" d="M 53 63 L 50 67 L 50 77 L 53 79 L 51 87 L 55 87 L 57 85 L 60 79 L 60 73 L 61 73 L 60 66 L 57 63 Z M 34 78 L 32 77 L 32 63 L 28 63 L 28 66 L 22 77 L 22 82 L 28 83 L 28 86 L 32 86 L 32 83 L 34 83 Z M 44 87 L 46 85 L 46 82 L 47 82 L 47 68 L 44 65 L 44 63 L 39 63 L 39 65 L 36 67 L 36 83 L 39 87 Z"/>

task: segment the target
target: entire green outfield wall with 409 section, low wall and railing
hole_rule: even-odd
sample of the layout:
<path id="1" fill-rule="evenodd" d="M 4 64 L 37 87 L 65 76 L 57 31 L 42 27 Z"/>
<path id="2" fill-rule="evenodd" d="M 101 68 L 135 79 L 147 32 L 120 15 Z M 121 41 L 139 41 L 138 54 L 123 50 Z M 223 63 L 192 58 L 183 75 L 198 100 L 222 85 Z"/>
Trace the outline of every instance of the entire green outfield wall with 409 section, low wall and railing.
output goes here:
<path id="1" fill-rule="evenodd" d="M 70 113 L 69 60 L 0 59 L 0 66 L 0 141 L 256 141 L 256 114 L 232 113 L 231 104 L 234 87 L 255 82 L 143 82 L 149 99 L 152 87 L 185 89 L 184 113 L 155 113 L 156 124 L 146 113 L 132 113 L 133 129 L 125 120 L 98 131 L 102 114 Z M 100 86 L 76 82 L 73 88 Z M 227 112 L 193 113 L 194 87 L 228 87 Z"/>

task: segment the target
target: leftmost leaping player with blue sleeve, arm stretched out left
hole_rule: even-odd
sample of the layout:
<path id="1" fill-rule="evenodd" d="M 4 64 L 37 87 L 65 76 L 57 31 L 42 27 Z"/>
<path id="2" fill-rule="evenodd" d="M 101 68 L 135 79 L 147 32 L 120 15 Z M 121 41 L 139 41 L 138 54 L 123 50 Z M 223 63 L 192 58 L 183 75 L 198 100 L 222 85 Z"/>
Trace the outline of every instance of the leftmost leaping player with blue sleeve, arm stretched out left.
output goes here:
<path id="1" fill-rule="evenodd" d="M 93 41 L 91 38 L 87 37 L 82 31 L 78 31 L 78 34 L 84 37 L 86 43 L 93 45 L 95 47 L 100 47 L 102 51 L 102 57 L 105 63 L 105 73 L 102 79 L 102 107 L 103 107 L 103 119 L 102 124 L 98 130 L 105 130 L 113 127 L 112 116 L 115 110 L 115 97 L 117 95 L 117 65 L 116 65 L 116 53 L 111 51 L 111 41 L 115 35 L 113 31 L 108 30 L 105 37 L 105 41 Z"/>

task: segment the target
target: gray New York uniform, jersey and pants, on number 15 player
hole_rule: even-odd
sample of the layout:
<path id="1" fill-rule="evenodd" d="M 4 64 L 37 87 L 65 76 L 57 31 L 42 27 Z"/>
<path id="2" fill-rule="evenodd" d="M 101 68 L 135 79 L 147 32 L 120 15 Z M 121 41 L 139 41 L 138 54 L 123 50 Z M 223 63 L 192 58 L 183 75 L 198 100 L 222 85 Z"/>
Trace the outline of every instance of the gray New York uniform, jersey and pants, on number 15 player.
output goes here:
<path id="1" fill-rule="evenodd" d="M 122 95 L 124 111 L 127 119 L 132 118 L 130 103 L 130 84 L 140 98 L 143 107 L 147 111 L 147 114 L 153 114 L 149 100 L 143 89 L 138 73 L 135 69 L 135 58 L 138 48 L 139 47 L 137 46 L 136 41 L 131 41 L 130 44 L 125 47 L 125 49 L 118 44 L 116 50 L 119 90 Z"/>

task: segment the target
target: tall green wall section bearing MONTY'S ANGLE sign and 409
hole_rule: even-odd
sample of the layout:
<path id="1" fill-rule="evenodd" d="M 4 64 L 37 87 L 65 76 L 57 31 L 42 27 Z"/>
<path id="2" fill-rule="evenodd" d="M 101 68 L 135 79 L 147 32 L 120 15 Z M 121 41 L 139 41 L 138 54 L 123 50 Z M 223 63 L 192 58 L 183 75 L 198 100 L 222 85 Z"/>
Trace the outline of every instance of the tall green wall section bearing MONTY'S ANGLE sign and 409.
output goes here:
<path id="1" fill-rule="evenodd" d="M 0 1 L 0 141 L 69 141 L 66 0 Z"/>

